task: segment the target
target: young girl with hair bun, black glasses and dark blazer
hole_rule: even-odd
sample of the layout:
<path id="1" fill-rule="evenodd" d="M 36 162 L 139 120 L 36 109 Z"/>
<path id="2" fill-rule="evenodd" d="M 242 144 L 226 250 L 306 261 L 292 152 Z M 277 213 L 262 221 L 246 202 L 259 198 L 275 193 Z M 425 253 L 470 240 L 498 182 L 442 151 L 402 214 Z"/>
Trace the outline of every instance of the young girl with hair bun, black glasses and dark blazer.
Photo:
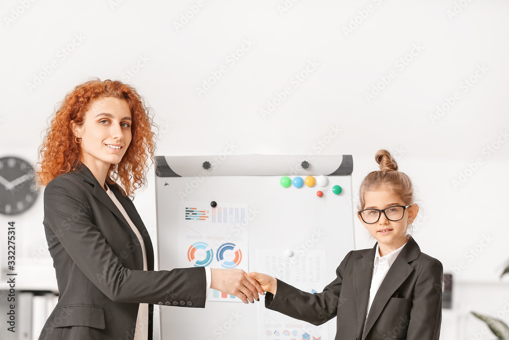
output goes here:
<path id="1" fill-rule="evenodd" d="M 360 186 L 357 217 L 377 240 L 352 250 L 322 293 L 309 294 L 260 273 L 265 306 L 320 325 L 337 316 L 335 339 L 438 339 L 442 317 L 442 264 L 407 235 L 419 207 L 410 178 L 387 150 L 375 156 L 379 171 Z M 276 294 L 277 291 L 277 294 Z"/>

